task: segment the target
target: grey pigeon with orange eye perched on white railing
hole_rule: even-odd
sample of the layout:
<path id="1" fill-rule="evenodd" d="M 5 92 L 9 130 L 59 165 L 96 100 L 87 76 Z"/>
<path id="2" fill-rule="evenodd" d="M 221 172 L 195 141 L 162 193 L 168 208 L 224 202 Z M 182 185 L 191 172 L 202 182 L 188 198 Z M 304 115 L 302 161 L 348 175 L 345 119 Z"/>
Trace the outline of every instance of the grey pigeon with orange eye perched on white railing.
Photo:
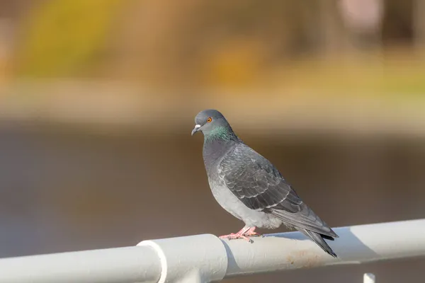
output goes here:
<path id="1" fill-rule="evenodd" d="M 278 169 L 247 146 L 217 110 L 203 110 L 195 117 L 193 134 L 204 136 L 203 161 L 215 200 L 244 221 L 237 233 L 220 238 L 261 236 L 256 228 L 277 229 L 282 224 L 305 234 L 326 253 L 337 258 L 324 239 L 339 236 L 303 202 Z"/>

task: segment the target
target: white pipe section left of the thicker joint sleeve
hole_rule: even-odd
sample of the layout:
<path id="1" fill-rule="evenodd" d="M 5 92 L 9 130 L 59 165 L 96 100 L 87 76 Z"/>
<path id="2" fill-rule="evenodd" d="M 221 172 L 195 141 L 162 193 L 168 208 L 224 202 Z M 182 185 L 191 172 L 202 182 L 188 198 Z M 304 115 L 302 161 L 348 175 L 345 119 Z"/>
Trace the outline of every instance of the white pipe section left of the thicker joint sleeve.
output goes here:
<path id="1" fill-rule="evenodd" d="M 1 283 L 158 282 L 161 264 L 150 247 L 108 248 L 0 260 Z"/>

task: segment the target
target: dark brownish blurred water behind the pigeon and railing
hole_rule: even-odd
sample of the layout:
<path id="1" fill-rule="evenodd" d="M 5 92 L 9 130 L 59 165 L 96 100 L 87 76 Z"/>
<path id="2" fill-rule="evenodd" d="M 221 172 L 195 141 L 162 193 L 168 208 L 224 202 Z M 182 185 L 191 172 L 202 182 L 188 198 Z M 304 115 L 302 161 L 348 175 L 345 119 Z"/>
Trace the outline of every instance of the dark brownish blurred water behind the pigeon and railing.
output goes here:
<path id="1" fill-rule="evenodd" d="M 202 138 L 106 134 L 47 125 L 0 125 L 0 256 L 132 246 L 148 238 L 238 231 L 215 202 Z M 331 226 L 423 218 L 425 143 L 240 133 Z M 244 278 L 291 282 L 422 282 L 425 260 L 297 270 Z M 230 281 L 230 280 L 229 280 Z M 242 282 L 232 279 L 231 282 Z"/>

